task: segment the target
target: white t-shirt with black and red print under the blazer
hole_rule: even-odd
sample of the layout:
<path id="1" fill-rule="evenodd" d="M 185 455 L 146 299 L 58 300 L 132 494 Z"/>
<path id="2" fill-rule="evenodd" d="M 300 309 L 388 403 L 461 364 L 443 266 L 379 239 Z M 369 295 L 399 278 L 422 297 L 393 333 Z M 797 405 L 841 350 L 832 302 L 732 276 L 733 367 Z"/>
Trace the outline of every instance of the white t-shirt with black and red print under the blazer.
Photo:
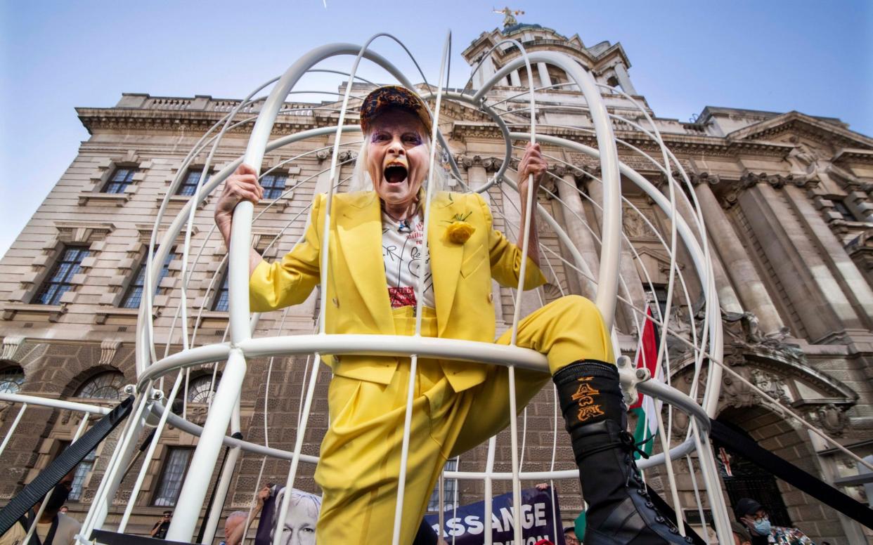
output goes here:
<path id="1" fill-rule="evenodd" d="M 391 308 L 416 306 L 418 275 L 424 273 L 423 306 L 436 308 L 434 283 L 430 274 L 430 256 L 422 265 L 424 221 L 416 215 L 414 221 L 398 223 L 382 212 L 382 259 Z"/>

